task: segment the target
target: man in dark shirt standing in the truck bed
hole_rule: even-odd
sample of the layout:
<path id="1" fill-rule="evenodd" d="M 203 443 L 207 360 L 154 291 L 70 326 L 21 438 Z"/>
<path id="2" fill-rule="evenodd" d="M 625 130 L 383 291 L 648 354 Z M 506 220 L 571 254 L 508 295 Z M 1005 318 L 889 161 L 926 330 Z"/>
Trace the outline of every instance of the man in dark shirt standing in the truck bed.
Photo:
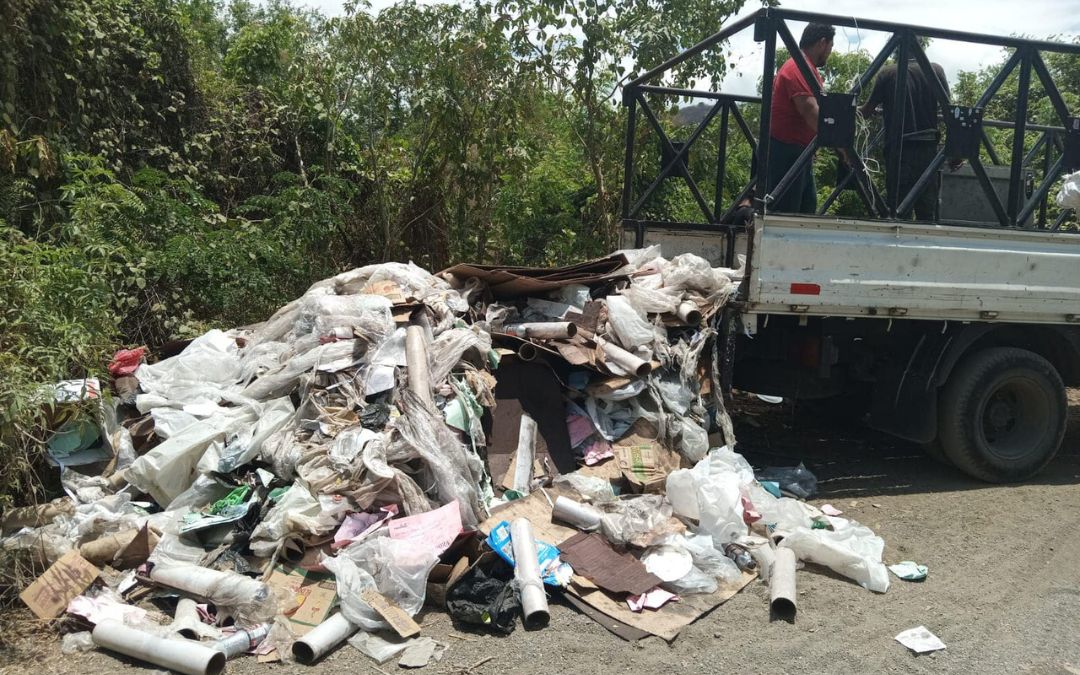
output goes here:
<path id="1" fill-rule="evenodd" d="M 948 94 L 948 80 L 945 71 L 937 64 L 930 64 L 933 68 L 933 77 L 936 77 L 945 93 Z M 919 176 L 937 154 L 937 99 L 931 89 L 932 81 L 922 72 L 919 64 L 913 58 L 907 64 L 907 100 L 904 111 L 904 137 L 900 146 L 900 190 L 896 197 L 896 205 L 907 197 L 912 188 L 915 187 Z M 892 129 L 892 119 L 896 113 L 896 106 L 893 97 L 896 94 L 896 66 L 894 64 L 881 68 L 877 79 L 874 81 L 874 89 L 870 97 L 859 109 L 863 117 L 868 118 L 874 114 L 878 105 L 885 112 L 886 129 L 886 188 L 891 191 L 894 176 L 889 175 L 888 167 L 891 165 L 889 158 L 892 157 L 892 136 L 889 132 Z M 934 220 L 937 212 L 937 195 L 941 191 L 941 177 L 934 176 L 915 201 L 915 217 L 918 220 Z"/>

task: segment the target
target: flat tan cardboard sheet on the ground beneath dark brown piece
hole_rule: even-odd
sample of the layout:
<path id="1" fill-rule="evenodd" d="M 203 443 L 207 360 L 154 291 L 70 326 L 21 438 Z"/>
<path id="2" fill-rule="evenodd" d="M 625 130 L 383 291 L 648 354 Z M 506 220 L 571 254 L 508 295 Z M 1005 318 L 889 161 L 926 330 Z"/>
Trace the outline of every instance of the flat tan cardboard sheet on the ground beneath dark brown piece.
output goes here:
<path id="1" fill-rule="evenodd" d="M 757 575 L 743 572 L 742 580 L 734 584 L 723 584 L 715 593 L 707 595 L 701 593 L 680 595 L 677 603 L 669 603 L 657 611 L 644 611 L 640 613 L 631 611 L 626 607 L 626 602 L 623 597 L 605 593 L 600 590 L 581 589 L 575 584 L 570 584 L 567 588 L 567 594 L 577 596 L 582 603 L 591 606 L 605 617 L 671 642 L 678 636 L 679 631 L 684 627 L 726 603 L 756 578 Z M 604 627 L 608 627 L 604 624 L 604 621 L 599 621 L 599 623 Z M 608 627 L 608 630 L 623 639 L 637 639 L 625 637 L 612 629 Z"/>

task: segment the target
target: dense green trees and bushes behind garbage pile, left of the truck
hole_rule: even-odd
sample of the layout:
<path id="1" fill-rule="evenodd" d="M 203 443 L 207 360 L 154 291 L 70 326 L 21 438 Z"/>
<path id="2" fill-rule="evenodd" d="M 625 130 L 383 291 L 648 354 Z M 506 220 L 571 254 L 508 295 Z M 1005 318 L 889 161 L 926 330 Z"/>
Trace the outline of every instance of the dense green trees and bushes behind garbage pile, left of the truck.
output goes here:
<path id="1" fill-rule="evenodd" d="M 119 346 L 373 261 L 609 251 L 618 84 L 741 4 L 0 3 L 0 505 L 38 488 L 42 386 Z"/>

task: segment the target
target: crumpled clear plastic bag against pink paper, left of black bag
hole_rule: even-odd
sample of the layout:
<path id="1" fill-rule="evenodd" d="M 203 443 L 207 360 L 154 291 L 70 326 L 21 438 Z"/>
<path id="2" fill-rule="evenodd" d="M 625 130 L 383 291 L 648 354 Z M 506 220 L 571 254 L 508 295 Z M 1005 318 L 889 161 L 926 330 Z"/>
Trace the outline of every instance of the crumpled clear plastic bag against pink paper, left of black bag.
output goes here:
<path id="1" fill-rule="evenodd" d="M 415 616 L 423 607 L 428 575 L 438 556 L 423 542 L 383 536 L 351 544 L 322 563 L 337 580 L 345 618 L 366 631 L 376 631 L 390 626 L 363 600 L 363 591 L 374 588 Z"/>

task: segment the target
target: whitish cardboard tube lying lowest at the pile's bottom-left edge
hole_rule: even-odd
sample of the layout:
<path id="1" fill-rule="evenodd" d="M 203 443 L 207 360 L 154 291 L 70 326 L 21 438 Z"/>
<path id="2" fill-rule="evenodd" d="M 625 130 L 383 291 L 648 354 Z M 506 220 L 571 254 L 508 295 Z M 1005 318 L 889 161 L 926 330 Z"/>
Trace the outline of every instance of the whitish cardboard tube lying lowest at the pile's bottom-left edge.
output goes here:
<path id="1" fill-rule="evenodd" d="M 94 626 L 92 638 L 98 647 L 185 675 L 218 675 L 225 670 L 225 654 L 220 651 L 198 643 L 150 635 L 112 619 Z"/>

